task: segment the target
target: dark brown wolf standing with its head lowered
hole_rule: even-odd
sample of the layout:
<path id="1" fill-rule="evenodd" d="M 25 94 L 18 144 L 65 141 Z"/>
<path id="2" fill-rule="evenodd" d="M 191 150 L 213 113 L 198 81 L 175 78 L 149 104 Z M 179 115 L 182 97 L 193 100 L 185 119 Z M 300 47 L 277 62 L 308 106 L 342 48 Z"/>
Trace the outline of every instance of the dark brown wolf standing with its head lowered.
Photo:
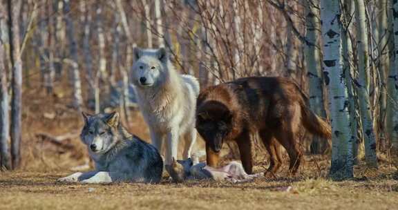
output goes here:
<path id="1" fill-rule="evenodd" d="M 269 169 L 281 166 L 282 145 L 294 175 L 301 162 L 297 135 L 307 131 L 331 138 L 330 125 L 310 111 L 308 99 L 290 79 L 247 77 L 202 90 L 197 101 L 196 128 L 206 142 L 207 164 L 216 166 L 223 142 L 238 144 L 245 171 L 252 173 L 250 135 L 258 132 L 269 153 Z"/>

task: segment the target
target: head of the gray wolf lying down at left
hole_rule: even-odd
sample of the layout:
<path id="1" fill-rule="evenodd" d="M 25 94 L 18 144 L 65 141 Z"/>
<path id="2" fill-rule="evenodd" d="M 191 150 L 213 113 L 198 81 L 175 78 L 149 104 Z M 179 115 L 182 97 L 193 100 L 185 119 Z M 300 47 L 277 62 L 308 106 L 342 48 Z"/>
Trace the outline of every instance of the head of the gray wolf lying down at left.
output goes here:
<path id="1" fill-rule="evenodd" d="M 82 142 L 93 153 L 106 153 L 117 142 L 119 114 L 98 114 L 84 116 L 84 128 L 80 134 Z"/>

